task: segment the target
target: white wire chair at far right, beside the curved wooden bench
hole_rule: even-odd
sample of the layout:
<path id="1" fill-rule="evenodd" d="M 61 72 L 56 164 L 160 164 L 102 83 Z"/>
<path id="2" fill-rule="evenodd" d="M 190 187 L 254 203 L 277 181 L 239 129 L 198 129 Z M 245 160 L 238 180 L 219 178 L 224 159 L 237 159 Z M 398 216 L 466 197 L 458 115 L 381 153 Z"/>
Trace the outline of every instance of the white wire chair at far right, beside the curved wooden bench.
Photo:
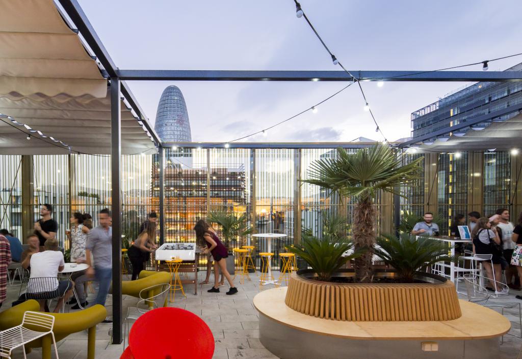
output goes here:
<path id="1" fill-rule="evenodd" d="M 466 283 L 466 292 L 468 295 L 468 301 L 471 303 L 480 304 L 485 307 L 489 308 L 501 308 L 502 315 L 504 315 L 504 309 L 512 309 L 518 307 L 518 324 L 520 326 L 520 337 L 522 338 L 522 310 L 520 308 L 520 302 L 498 302 L 498 301 L 492 301 L 491 298 L 494 298 L 494 296 L 490 293 L 488 293 L 488 290 L 482 287 L 479 284 L 479 281 L 482 280 L 490 280 L 489 278 L 473 275 L 473 274 L 465 274 L 464 276 L 464 282 Z M 507 289 L 509 290 L 509 287 L 507 287 L 506 284 L 502 282 L 495 281 L 496 285 L 498 287 L 501 287 L 504 291 Z M 507 294 L 507 292 L 506 292 Z M 508 335 L 517 337 L 513 334 L 508 333 Z M 502 341 L 504 341 L 504 337 L 502 337 Z"/>

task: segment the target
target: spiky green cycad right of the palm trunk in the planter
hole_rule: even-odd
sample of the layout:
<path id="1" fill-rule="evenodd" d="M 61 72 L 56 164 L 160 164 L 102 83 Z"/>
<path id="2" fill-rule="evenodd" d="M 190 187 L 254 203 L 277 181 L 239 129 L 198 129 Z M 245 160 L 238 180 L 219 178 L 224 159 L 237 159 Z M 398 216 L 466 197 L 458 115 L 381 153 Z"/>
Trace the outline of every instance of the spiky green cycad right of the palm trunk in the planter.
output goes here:
<path id="1" fill-rule="evenodd" d="M 397 275 L 405 283 L 412 283 L 414 274 L 424 266 L 437 262 L 450 262 L 453 257 L 448 255 L 444 242 L 428 237 L 411 236 L 404 233 L 400 238 L 394 234 L 383 234 L 377 239 L 375 254 L 386 264 L 395 268 Z"/>

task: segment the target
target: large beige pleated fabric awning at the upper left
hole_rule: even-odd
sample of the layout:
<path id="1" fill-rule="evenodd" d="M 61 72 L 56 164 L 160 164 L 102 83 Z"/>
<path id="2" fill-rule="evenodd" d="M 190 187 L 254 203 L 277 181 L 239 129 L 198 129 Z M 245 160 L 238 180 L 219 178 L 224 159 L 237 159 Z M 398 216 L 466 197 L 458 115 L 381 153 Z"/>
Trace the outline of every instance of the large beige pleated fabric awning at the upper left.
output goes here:
<path id="1" fill-rule="evenodd" d="M 109 154 L 109 86 L 53 0 L 0 0 L 0 154 Z M 122 153 L 152 153 L 121 108 Z"/>

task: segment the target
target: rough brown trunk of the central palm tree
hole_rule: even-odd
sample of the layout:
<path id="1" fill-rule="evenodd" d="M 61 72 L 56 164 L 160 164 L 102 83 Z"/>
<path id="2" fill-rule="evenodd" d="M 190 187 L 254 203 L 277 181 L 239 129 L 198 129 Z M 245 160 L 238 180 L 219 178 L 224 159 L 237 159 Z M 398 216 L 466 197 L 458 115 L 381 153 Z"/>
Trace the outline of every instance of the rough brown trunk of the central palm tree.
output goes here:
<path id="1" fill-rule="evenodd" d="M 366 251 L 360 257 L 355 258 L 355 282 L 370 283 L 375 244 L 375 207 L 370 198 L 361 199 L 355 204 L 352 236 L 355 251 Z"/>

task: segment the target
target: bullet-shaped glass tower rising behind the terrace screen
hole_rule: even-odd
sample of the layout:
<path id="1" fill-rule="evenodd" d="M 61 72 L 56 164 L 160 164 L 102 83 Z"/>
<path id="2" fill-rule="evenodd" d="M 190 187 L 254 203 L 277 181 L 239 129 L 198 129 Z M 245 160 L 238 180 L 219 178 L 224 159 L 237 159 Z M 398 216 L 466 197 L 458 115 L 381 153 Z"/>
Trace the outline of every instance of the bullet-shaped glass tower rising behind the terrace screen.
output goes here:
<path id="1" fill-rule="evenodd" d="M 163 90 L 154 129 L 165 142 L 192 141 L 185 98 L 177 86 L 168 86 Z"/>

